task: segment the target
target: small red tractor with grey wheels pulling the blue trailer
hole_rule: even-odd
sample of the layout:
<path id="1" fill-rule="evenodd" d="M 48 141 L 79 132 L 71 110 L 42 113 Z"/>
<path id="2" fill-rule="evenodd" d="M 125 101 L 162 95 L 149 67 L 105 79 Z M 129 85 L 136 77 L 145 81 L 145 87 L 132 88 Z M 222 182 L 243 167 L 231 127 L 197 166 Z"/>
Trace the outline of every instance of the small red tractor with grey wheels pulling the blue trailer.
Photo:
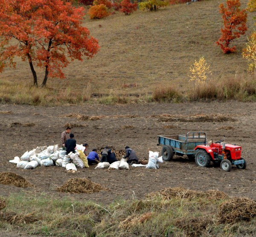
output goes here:
<path id="1" fill-rule="evenodd" d="M 208 167 L 212 161 L 215 165 L 220 165 L 224 171 L 230 171 L 232 164 L 239 169 L 246 168 L 246 161 L 241 157 L 242 147 L 236 144 L 225 144 L 224 140 L 220 140 L 198 145 L 195 150 L 195 163 L 198 166 Z"/>

